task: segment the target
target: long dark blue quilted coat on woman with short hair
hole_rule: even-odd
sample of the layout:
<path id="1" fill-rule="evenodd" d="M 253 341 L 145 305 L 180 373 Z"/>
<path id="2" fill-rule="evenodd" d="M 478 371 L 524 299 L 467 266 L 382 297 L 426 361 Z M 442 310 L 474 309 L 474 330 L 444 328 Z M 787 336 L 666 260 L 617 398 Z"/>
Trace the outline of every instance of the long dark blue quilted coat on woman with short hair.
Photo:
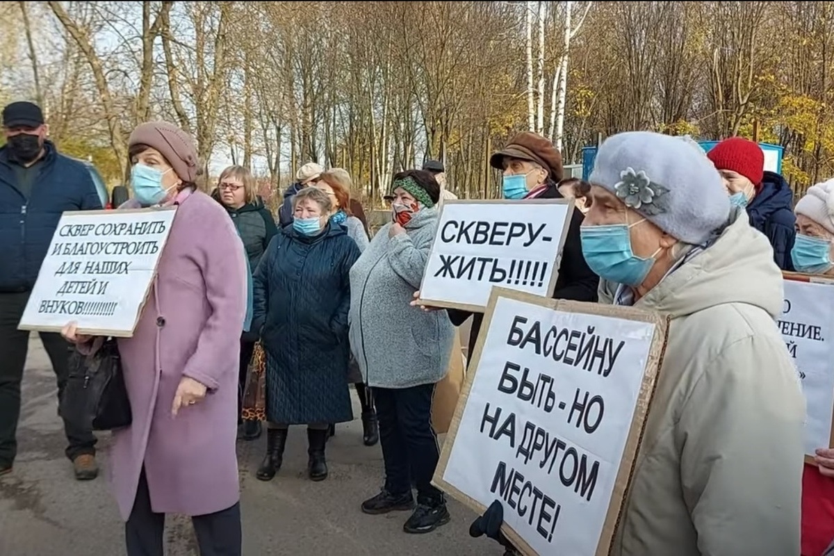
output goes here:
<path id="1" fill-rule="evenodd" d="M 317 236 L 285 226 L 254 273 L 253 330 L 267 355 L 267 417 L 274 423 L 343 423 L 348 391 L 350 267 L 359 248 L 344 227 Z"/>

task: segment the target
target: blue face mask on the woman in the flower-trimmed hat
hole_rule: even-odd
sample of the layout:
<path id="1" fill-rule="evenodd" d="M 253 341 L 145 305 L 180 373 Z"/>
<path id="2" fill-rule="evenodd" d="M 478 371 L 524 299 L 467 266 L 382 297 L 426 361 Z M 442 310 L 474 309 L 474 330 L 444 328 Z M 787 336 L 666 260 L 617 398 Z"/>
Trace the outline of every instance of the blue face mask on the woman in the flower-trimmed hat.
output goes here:
<path id="1" fill-rule="evenodd" d="M 631 227 L 628 224 L 582 226 L 580 238 L 585 262 L 600 278 L 636 287 L 646 280 L 651 267 L 655 264 L 655 257 L 661 249 L 649 258 L 637 257 L 631 251 L 629 228 Z"/>

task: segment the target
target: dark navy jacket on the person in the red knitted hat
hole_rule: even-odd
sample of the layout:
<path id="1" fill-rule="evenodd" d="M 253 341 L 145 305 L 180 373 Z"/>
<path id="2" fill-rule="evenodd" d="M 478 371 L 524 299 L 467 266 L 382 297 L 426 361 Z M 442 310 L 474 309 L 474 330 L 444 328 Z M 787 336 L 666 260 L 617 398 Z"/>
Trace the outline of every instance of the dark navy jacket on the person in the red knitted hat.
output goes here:
<path id="1" fill-rule="evenodd" d="M 773 260 L 782 270 L 793 270 L 791 248 L 796 237 L 791 186 L 779 174 L 765 172 L 756 197 L 747 205 L 750 225 L 767 236 Z"/>

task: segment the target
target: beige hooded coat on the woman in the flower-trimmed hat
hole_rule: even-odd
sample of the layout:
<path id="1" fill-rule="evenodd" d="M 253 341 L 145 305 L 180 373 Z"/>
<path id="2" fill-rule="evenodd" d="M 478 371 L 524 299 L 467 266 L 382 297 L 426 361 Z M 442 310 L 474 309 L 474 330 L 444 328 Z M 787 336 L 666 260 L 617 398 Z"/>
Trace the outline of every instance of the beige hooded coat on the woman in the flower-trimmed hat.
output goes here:
<path id="1" fill-rule="evenodd" d="M 671 315 L 614 556 L 796 556 L 804 399 L 745 213 L 636 307 Z"/>

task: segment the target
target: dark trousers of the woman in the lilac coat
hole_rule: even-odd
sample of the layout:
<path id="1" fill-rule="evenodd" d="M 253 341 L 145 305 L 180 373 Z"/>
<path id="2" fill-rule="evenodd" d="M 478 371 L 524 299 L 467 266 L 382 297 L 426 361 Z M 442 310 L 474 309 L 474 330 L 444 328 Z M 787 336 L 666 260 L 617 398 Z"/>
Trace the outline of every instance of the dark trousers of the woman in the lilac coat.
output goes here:
<path id="1" fill-rule="evenodd" d="M 200 556 L 241 556 L 240 503 L 191 518 Z M 139 476 L 136 501 L 124 525 L 128 556 L 164 556 L 165 514 L 153 513 L 145 470 Z"/>

